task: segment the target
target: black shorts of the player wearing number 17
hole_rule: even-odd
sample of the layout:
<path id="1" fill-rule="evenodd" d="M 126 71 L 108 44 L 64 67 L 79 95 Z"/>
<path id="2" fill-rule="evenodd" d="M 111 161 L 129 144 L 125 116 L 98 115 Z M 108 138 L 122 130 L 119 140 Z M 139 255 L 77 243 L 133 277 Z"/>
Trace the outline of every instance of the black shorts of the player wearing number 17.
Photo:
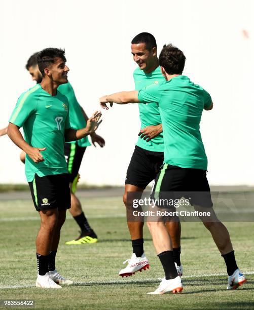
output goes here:
<path id="1" fill-rule="evenodd" d="M 37 211 L 70 208 L 69 176 L 67 173 L 34 175 L 32 182 L 28 182 L 34 207 Z"/>

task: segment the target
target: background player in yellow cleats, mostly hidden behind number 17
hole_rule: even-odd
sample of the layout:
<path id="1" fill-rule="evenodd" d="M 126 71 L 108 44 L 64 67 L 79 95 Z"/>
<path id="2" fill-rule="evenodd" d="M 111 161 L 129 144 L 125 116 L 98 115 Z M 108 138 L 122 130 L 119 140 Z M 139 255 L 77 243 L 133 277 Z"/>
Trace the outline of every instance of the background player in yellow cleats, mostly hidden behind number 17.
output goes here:
<path id="1" fill-rule="evenodd" d="M 33 81 L 41 83 L 42 73 L 39 70 L 37 64 L 38 53 L 31 55 L 27 61 L 26 69 L 31 74 Z M 70 83 L 61 84 L 58 87 L 60 93 L 65 95 L 69 101 L 69 120 L 70 126 L 73 129 L 81 129 L 86 127 L 86 122 L 88 120 L 87 114 L 84 109 L 80 106 L 73 88 Z M 98 143 L 100 147 L 105 145 L 105 141 L 102 137 L 97 135 L 95 132 L 91 135 L 91 140 L 94 146 Z M 80 227 L 80 236 L 76 240 L 71 240 L 65 242 L 67 245 L 81 245 L 87 243 L 96 243 L 98 241 L 97 235 L 94 230 L 89 225 L 89 222 L 82 210 L 81 202 L 75 195 L 77 190 L 77 182 L 79 180 L 79 169 L 83 159 L 86 147 L 89 146 L 88 137 L 84 137 L 78 141 L 67 142 L 64 144 L 64 154 L 67 161 L 68 172 L 69 172 L 69 182 L 70 182 L 70 198 L 71 207 L 69 212 L 77 222 Z M 25 153 L 21 153 L 21 161 L 24 162 Z"/>

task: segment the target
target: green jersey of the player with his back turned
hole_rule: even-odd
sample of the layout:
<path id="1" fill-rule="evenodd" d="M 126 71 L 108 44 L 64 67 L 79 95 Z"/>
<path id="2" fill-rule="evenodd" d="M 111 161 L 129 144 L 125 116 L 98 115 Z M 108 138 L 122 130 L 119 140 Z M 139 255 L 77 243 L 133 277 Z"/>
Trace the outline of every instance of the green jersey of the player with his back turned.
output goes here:
<path id="1" fill-rule="evenodd" d="M 199 131 L 204 107 L 210 95 L 187 76 L 140 90 L 140 102 L 159 102 L 163 135 L 164 163 L 182 168 L 207 170 L 207 157 Z"/>

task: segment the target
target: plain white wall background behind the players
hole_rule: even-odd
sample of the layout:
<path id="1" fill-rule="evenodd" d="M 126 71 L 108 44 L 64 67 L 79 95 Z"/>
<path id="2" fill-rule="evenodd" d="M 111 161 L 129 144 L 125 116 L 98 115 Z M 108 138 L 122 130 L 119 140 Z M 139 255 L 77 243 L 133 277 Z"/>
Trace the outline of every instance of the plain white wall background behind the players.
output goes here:
<path id="1" fill-rule="evenodd" d="M 33 85 L 24 69 L 33 52 L 65 48 L 69 81 L 90 115 L 98 97 L 133 90 L 130 42 L 147 31 L 155 35 L 159 51 L 164 43 L 182 49 L 184 74 L 212 96 L 214 109 L 204 113 L 201 124 L 210 183 L 253 185 L 253 8 L 251 0 L 3 0 L 0 127 L 7 125 L 19 95 Z M 89 147 L 82 181 L 123 184 L 138 131 L 137 106 L 115 105 L 103 112 L 98 134 L 106 146 Z M 0 139 L 0 183 L 25 182 L 19 149 L 7 136 Z"/>

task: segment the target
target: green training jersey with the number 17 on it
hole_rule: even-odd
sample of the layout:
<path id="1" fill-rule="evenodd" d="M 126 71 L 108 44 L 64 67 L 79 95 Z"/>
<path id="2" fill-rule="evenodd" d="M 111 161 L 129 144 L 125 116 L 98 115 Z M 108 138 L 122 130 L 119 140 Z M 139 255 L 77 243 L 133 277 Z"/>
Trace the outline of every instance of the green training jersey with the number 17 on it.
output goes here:
<path id="1" fill-rule="evenodd" d="M 40 84 L 23 93 L 14 108 L 10 123 L 23 127 L 25 141 L 33 147 L 46 147 L 43 162 L 34 163 L 28 155 L 25 160 L 27 181 L 35 173 L 45 175 L 68 173 L 64 157 L 64 130 L 70 128 L 68 99 L 57 91 L 51 96 Z"/>

